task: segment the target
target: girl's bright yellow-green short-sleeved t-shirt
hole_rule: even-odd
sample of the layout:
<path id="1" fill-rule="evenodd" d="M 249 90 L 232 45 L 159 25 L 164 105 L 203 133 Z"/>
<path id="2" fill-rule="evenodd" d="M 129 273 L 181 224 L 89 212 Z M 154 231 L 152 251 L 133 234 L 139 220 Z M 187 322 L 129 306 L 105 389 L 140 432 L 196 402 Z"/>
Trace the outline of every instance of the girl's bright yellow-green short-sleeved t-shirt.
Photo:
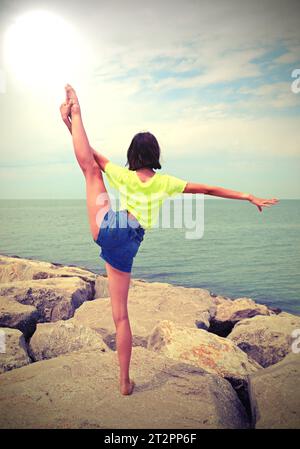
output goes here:
<path id="1" fill-rule="evenodd" d="M 143 182 L 135 171 L 111 161 L 104 172 L 110 186 L 120 192 L 121 209 L 131 212 L 145 229 L 156 222 L 163 201 L 182 193 L 187 184 L 183 179 L 161 173 Z"/>

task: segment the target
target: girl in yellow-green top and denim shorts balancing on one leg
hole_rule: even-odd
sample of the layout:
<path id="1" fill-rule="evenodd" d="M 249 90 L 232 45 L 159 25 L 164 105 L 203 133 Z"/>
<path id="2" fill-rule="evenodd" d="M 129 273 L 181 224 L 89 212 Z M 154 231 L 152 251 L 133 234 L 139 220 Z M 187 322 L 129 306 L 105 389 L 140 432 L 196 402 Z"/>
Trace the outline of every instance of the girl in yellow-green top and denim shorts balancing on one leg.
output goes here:
<path id="1" fill-rule="evenodd" d="M 86 180 L 89 225 L 94 241 L 101 247 L 105 260 L 116 326 L 116 345 L 120 366 L 120 392 L 132 393 L 134 381 L 129 376 L 132 334 L 128 319 L 127 299 L 133 259 L 143 240 L 145 229 L 153 226 L 164 199 L 180 193 L 203 193 L 247 200 L 262 211 L 278 202 L 276 198 L 256 198 L 249 193 L 187 182 L 160 169 L 160 148 L 149 132 L 134 136 L 127 152 L 129 169 L 112 163 L 91 148 L 81 117 L 74 89 L 67 84 L 66 100 L 60 111 L 72 134 L 75 156 Z M 120 191 L 121 209 L 113 211 L 103 182 L 102 171 L 110 185 Z"/>

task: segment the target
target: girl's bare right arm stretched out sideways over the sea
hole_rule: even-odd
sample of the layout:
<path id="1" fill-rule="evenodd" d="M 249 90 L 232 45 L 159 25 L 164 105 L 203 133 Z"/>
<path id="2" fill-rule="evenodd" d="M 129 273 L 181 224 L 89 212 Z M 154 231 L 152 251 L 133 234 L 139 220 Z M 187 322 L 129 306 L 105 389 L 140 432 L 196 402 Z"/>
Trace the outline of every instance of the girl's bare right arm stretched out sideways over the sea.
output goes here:
<path id="1" fill-rule="evenodd" d="M 194 182 L 188 182 L 183 193 L 204 193 L 205 195 L 219 196 L 222 198 L 232 198 L 235 200 L 247 200 L 258 207 L 258 210 L 262 212 L 263 207 L 270 207 L 273 204 L 278 203 L 277 198 L 264 199 L 257 198 L 251 193 L 237 192 L 236 190 L 229 190 L 223 187 L 209 186 L 207 184 L 197 184 Z"/>

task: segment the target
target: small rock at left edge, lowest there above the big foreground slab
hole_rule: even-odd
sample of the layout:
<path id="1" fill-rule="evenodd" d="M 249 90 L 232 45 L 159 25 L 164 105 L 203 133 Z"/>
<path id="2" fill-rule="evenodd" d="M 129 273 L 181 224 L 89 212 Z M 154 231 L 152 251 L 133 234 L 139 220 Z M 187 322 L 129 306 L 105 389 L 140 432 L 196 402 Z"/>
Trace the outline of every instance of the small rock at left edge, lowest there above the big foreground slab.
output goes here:
<path id="1" fill-rule="evenodd" d="M 17 329 L 0 328 L 0 373 L 30 363 L 24 336 Z"/>

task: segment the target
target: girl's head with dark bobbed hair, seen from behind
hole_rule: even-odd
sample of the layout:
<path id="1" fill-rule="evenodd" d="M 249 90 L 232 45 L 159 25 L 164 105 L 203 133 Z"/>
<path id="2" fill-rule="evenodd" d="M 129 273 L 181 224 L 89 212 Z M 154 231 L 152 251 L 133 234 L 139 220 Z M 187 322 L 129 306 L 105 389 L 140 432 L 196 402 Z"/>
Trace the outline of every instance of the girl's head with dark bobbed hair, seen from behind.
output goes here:
<path id="1" fill-rule="evenodd" d="M 140 168 L 160 169 L 160 147 L 156 138 L 149 132 L 138 133 L 134 136 L 127 150 L 129 170 Z"/>

